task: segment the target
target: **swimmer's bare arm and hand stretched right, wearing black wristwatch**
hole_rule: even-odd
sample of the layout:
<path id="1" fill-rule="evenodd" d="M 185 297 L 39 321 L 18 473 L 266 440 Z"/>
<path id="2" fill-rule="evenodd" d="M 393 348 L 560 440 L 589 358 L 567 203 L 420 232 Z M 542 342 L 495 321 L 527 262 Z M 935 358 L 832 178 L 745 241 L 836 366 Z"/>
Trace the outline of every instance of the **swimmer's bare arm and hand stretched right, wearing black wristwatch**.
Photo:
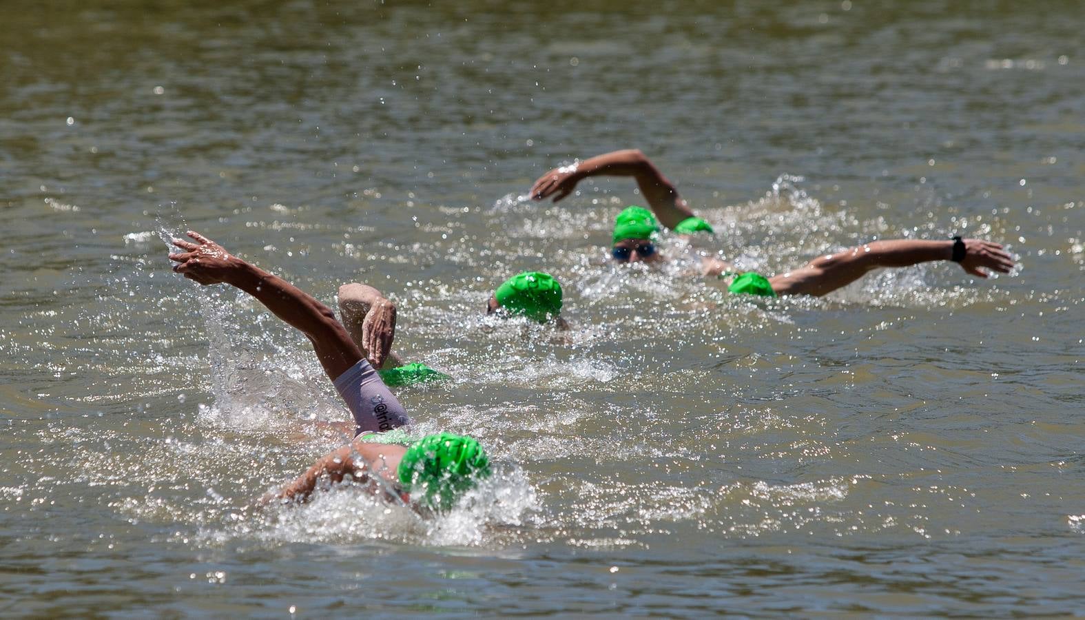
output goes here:
<path id="1" fill-rule="evenodd" d="M 965 239 L 960 267 L 966 273 L 986 278 L 990 271 L 1008 274 L 1013 258 L 1001 244 L 981 239 Z M 848 250 L 826 254 L 793 271 L 768 279 L 778 295 L 824 295 L 858 280 L 880 267 L 908 267 L 932 261 L 952 261 L 954 241 L 890 239 L 871 241 Z"/>

